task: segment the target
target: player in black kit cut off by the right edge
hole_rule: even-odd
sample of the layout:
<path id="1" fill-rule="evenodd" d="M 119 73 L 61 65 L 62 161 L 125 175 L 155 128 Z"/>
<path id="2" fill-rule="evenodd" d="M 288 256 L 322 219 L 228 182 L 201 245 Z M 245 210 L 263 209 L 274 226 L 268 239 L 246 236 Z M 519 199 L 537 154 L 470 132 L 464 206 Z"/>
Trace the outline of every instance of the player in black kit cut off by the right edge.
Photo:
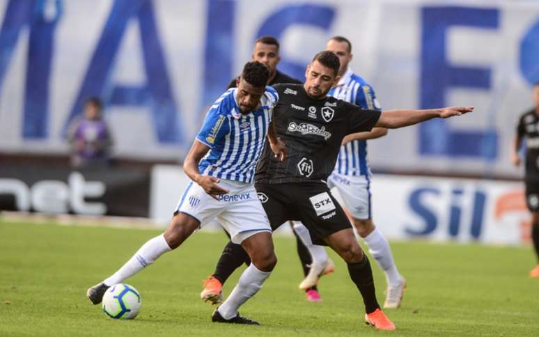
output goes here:
<path id="1" fill-rule="evenodd" d="M 519 152 L 522 140 L 526 138 L 526 204 L 531 212 L 531 239 L 538 258 L 538 265 L 531 269 L 530 277 L 539 278 L 539 82 L 533 86 L 532 98 L 536 106 L 520 116 L 511 161 L 515 166 L 520 165 Z"/>

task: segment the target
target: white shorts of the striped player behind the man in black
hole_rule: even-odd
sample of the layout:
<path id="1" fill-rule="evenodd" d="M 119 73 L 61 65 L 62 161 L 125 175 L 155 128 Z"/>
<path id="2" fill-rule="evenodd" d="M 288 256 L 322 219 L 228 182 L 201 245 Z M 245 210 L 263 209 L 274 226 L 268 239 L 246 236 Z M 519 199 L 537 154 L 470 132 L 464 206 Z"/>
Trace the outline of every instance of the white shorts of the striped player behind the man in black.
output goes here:
<path id="1" fill-rule="evenodd" d="M 344 203 L 352 217 L 360 220 L 371 219 L 369 177 L 366 175 L 342 175 L 333 172 L 329 175 L 327 186 L 338 191 L 341 198 L 334 195 L 335 198 L 339 203 Z"/>

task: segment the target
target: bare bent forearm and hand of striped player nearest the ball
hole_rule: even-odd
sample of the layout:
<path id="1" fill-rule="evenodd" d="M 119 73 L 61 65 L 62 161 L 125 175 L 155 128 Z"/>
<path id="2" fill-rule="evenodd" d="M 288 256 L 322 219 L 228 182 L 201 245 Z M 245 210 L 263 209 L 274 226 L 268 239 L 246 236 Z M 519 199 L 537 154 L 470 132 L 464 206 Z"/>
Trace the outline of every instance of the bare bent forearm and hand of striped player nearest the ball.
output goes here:
<path id="1" fill-rule="evenodd" d="M 217 185 L 221 180 L 219 178 L 211 177 L 209 175 L 201 175 L 198 171 L 198 163 L 208 153 L 210 147 L 201 141 L 194 141 L 191 150 L 187 154 L 185 161 L 183 162 L 183 171 L 191 180 L 196 182 L 204 189 L 204 191 L 212 198 L 219 200 L 219 194 L 227 194 L 228 191 Z"/>

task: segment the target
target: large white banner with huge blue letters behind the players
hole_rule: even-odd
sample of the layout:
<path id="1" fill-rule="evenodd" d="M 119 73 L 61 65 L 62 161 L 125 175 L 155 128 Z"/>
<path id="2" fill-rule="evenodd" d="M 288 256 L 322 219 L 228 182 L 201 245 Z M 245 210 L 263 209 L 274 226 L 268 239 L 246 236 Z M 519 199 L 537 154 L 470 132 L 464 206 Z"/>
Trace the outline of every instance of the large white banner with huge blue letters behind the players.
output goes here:
<path id="1" fill-rule="evenodd" d="M 68 152 L 65 131 L 97 95 L 119 158 L 178 161 L 205 108 L 281 41 L 303 79 L 334 35 L 384 109 L 475 105 L 369 143 L 375 171 L 517 178 L 509 148 L 539 81 L 538 1 L 0 0 L 0 152 Z"/>

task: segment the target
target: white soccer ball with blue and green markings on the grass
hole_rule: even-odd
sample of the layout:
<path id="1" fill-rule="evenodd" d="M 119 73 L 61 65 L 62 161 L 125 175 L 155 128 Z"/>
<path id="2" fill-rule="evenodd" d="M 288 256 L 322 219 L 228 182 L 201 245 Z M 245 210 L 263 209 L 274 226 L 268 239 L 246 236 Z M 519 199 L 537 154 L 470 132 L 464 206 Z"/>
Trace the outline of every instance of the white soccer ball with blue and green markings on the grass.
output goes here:
<path id="1" fill-rule="evenodd" d="M 118 283 L 103 295 L 103 312 L 115 320 L 132 320 L 141 309 L 141 295 L 131 285 Z"/>

